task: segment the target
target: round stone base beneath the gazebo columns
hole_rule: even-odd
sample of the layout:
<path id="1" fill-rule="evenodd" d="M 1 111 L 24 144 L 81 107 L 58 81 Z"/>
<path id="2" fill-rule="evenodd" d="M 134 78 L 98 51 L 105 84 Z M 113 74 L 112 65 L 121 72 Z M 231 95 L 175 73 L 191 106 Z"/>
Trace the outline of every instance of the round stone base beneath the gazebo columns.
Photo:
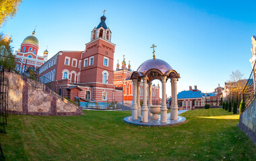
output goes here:
<path id="1" fill-rule="evenodd" d="M 133 120 L 131 118 L 131 116 L 125 117 L 125 119 L 123 119 L 126 123 L 130 123 L 133 125 L 140 125 L 140 126 L 154 126 L 154 127 L 161 127 L 161 126 L 171 126 L 171 125 L 178 125 L 181 123 L 185 123 L 186 118 L 183 116 L 178 116 L 177 120 L 172 120 L 170 119 L 170 115 L 168 115 L 167 117 L 167 122 L 166 123 L 160 123 L 160 115 L 158 120 L 153 120 L 153 119 L 148 119 L 147 123 L 143 123 L 141 122 L 139 119 L 137 120 Z"/>

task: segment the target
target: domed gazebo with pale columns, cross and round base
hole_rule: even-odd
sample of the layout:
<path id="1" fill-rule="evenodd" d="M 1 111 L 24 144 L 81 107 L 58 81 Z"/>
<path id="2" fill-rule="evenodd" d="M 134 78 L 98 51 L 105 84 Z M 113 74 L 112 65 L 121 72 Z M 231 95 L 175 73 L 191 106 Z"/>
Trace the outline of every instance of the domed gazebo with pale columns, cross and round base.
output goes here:
<path id="1" fill-rule="evenodd" d="M 154 44 L 153 44 L 154 46 Z M 153 49 L 154 54 L 154 49 Z M 172 105 L 170 108 L 170 117 L 167 116 L 166 107 L 166 82 L 170 78 L 172 89 Z M 177 123 L 178 121 L 178 104 L 177 104 L 177 80 L 180 78 L 179 73 L 172 69 L 172 67 L 164 60 L 156 59 L 155 55 L 153 59 L 143 62 L 137 71 L 131 74 L 131 80 L 133 80 L 133 106 L 132 116 L 126 117 L 125 122 L 135 125 L 146 125 L 145 123 L 151 122 L 153 124 L 166 124 Z M 162 82 L 162 105 L 152 105 L 152 80 L 158 79 Z M 139 85 L 143 83 L 143 105 L 140 107 L 139 103 Z M 148 84 L 148 91 L 147 91 Z M 147 100 L 148 95 L 148 100 Z M 147 102 L 149 101 L 149 102 Z M 150 110 L 149 110 L 150 109 Z M 158 113 L 160 114 L 160 120 Z M 152 115 L 153 114 L 153 115 Z M 181 117 L 181 116 L 179 116 Z M 170 119 L 170 120 L 167 120 Z M 185 121 L 185 117 L 180 118 L 179 122 Z M 141 124 L 142 123 L 142 124 Z M 157 126 L 159 126 L 157 125 Z"/>

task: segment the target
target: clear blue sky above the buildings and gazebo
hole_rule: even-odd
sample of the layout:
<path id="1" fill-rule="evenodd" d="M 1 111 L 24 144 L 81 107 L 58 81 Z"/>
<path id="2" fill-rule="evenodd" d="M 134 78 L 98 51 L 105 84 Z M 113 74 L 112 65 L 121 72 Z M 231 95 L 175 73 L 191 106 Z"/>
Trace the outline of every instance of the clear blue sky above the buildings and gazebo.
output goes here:
<path id="1" fill-rule="evenodd" d="M 38 55 L 85 50 L 106 9 L 106 25 L 116 44 L 114 67 L 125 55 L 131 68 L 152 58 L 179 72 L 177 91 L 197 85 L 203 92 L 224 87 L 234 70 L 251 73 L 251 36 L 256 35 L 255 1 L 32 1 L 24 0 L 15 17 L 1 28 L 13 38 L 14 50 L 36 26 Z M 171 95 L 170 81 L 167 95 Z"/>

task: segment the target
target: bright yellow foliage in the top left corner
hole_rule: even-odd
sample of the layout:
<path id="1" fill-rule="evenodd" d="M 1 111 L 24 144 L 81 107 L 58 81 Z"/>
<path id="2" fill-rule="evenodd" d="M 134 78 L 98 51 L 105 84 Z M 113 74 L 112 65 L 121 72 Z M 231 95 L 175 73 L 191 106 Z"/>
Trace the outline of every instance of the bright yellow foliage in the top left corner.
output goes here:
<path id="1" fill-rule="evenodd" d="M 16 14 L 20 3 L 22 0 L 0 0 L 0 27 Z"/>

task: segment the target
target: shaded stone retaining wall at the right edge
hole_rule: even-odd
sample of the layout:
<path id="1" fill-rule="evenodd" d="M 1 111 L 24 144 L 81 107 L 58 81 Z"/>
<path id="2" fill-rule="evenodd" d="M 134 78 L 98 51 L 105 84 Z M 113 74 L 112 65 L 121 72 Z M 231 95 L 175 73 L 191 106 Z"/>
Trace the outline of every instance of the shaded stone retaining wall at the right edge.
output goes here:
<path id="1" fill-rule="evenodd" d="M 238 127 L 244 131 L 256 146 L 256 99 L 240 115 Z"/>

